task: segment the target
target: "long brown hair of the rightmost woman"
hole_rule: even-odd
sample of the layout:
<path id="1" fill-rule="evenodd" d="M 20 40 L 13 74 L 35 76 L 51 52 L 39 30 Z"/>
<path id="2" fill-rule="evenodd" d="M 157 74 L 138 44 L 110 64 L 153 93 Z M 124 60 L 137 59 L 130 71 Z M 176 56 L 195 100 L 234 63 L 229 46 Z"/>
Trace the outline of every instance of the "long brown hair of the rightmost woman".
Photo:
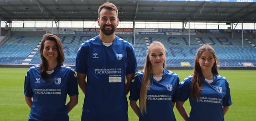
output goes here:
<path id="1" fill-rule="evenodd" d="M 211 72 L 213 74 L 219 74 L 217 69 L 217 63 L 219 63 L 219 59 L 216 56 L 215 50 L 211 47 L 210 44 L 204 44 L 197 50 L 197 54 L 195 57 L 195 63 L 194 63 L 194 73 L 192 77 L 192 83 L 191 83 L 191 97 L 197 97 L 200 99 L 200 91 L 202 89 L 202 70 L 199 64 L 199 59 L 204 51 L 211 51 L 213 58 L 215 60 L 213 66 L 211 67 Z"/>

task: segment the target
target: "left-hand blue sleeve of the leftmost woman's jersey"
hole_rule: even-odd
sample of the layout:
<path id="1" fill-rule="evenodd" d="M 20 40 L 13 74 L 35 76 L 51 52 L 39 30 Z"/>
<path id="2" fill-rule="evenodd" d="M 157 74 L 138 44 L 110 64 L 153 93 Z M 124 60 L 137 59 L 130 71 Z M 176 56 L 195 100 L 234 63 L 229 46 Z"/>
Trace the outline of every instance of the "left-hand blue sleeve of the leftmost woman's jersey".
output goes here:
<path id="1" fill-rule="evenodd" d="M 33 97 L 33 91 L 30 84 L 30 73 L 27 71 L 24 82 L 24 95 L 27 97 Z"/>

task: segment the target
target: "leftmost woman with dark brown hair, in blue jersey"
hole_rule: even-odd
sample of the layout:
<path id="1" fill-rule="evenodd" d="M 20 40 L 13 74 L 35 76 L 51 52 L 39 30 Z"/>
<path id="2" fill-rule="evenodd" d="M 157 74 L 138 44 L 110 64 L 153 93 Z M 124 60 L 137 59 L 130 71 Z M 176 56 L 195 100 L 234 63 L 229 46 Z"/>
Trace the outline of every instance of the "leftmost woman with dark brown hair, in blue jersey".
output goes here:
<path id="1" fill-rule="evenodd" d="M 77 76 L 64 65 L 61 40 L 45 34 L 40 46 L 41 64 L 31 67 L 24 82 L 25 101 L 31 108 L 29 121 L 68 121 L 78 103 Z M 67 94 L 70 101 L 67 100 Z"/>

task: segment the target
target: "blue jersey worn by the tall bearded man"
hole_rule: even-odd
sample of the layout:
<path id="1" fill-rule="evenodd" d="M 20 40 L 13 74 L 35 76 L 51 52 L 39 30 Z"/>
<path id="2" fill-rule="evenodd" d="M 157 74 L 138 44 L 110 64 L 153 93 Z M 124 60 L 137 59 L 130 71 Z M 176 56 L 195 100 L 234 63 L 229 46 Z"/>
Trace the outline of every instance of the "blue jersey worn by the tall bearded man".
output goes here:
<path id="1" fill-rule="evenodd" d="M 137 72 L 133 46 L 115 36 L 111 46 L 99 36 L 85 41 L 78 50 L 75 71 L 87 74 L 82 119 L 127 117 L 125 76 Z"/>

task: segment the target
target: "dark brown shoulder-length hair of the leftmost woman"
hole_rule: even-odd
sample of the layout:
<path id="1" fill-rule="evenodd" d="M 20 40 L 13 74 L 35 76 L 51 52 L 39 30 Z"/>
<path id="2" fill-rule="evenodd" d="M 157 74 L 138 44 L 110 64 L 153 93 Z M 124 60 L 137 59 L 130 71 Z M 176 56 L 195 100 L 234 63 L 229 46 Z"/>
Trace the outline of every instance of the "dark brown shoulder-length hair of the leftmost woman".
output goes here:
<path id="1" fill-rule="evenodd" d="M 45 48 L 45 41 L 46 40 L 51 40 L 51 41 L 55 41 L 56 42 L 56 46 L 57 46 L 57 50 L 58 50 L 58 57 L 57 57 L 57 63 L 58 64 L 63 64 L 64 60 L 65 60 L 65 56 L 64 56 L 64 51 L 62 48 L 62 44 L 61 44 L 61 40 L 59 39 L 59 37 L 57 37 L 56 35 L 53 34 L 45 34 L 41 40 L 41 46 L 40 46 L 40 57 L 41 57 L 41 64 L 40 64 L 40 71 L 41 71 L 41 76 L 45 81 L 49 81 L 50 79 L 48 78 L 48 75 L 46 73 L 46 71 L 48 70 L 48 62 L 45 59 L 44 55 L 43 55 L 43 51 Z"/>

